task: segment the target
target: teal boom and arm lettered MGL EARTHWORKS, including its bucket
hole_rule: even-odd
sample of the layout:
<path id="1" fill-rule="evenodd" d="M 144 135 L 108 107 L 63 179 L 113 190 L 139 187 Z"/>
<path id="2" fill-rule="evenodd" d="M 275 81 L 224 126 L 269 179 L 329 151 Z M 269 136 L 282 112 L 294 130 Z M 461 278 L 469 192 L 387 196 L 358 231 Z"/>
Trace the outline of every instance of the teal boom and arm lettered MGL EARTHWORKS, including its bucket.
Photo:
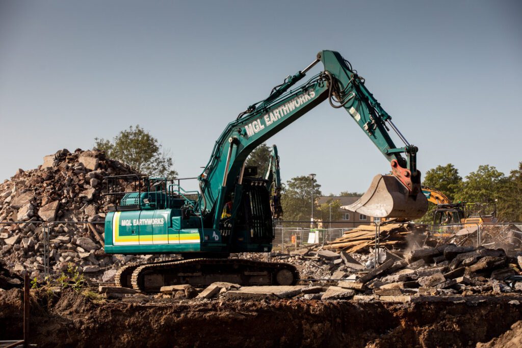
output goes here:
<path id="1" fill-rule="evenodd" d="M 319 62 L 323 63 L 324 71 L 291 89 Z M 337 52 L 321 51 L 312 64 L 289 76 L 268 98 L 249 106 L 229 123 L 216 141 L 210 160 L 199 176 L 201 210 L 213 212 L 214 228 L 219 226 L 225 197 L 234 187 L 237 190 L 237 186 L 242 185 L 248 154 L 327 99 L 331 106 L 349 113 L 392 167 L 393 177 L 376 176 L 374 187 L 351 209 L 374 217 L 416 218 L 425 213 L 428 205 L 420 190 L 417 147 L 410 145 L 398 131 L 350 63 Z M 389 135 L 390 128 L 405 142 L 404 147 L 395 146 Z"/>

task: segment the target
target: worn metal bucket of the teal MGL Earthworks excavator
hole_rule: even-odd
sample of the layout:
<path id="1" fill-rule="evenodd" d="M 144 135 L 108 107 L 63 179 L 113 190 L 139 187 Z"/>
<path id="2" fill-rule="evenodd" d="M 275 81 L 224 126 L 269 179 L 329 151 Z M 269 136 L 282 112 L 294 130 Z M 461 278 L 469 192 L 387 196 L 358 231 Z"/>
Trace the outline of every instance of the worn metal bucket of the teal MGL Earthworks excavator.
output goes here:
<path id="1" fill-rule="evenodd" d="M 375 218 L 416 219 L 428 210 L 428 200 L 420 185 L 416 191 L 417 195 L 411 196 L 410 191 L 395 176 L 378 174 L 357 202 L 341 208 Z"/>

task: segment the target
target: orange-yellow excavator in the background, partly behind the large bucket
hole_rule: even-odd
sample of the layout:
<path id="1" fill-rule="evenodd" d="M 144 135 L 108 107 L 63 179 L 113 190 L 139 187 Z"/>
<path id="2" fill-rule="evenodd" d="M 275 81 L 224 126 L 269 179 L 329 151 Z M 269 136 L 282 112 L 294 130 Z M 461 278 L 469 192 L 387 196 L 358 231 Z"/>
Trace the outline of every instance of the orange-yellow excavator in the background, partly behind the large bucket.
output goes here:
<path id="1" fill-rule="evenodd" d="M 452 203 L 441 191 L 427 186 L 422 186 L 422 193 L 429 202 L 437 205 L 433 213 L 433 225 L 464 224 L 465 227 L 472 227 L 497 221 L 495 203 Z"/>

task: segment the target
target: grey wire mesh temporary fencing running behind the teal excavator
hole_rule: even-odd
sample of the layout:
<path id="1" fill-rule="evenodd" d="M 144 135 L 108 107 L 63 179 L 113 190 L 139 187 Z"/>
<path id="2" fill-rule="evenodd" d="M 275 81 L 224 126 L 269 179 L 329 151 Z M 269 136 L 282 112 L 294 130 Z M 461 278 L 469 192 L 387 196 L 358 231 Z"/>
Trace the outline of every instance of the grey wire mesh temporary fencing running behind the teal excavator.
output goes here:
<path id="1" fill-rule="evenodd" d="M 375 238 L 364 244 L 358 253 L 374 255 L 375 267 L 387 259 L 401 260 L 409 250 L 454 243 L 459 246 L 502 248 L 508 256 L 522 251 L 522 229 L 516 223 L 483 223 L 427 225 L 409 223 L 397 227 L 389 222 L 372 223 Z M 402 225 L 401 225 L 402 226 Z M 105 281 L 127 262 L 176 259 L 176 255 L 108 255 L 103 251 L 104 223 L 92 221 L 0 222 L 2 258 L 15 271 L 28 272 L 31 277 L 60 275 L 70 265 L 78 267 L 85 277 Z M 272 255 L 316 245 L 326 246 L 352 228 L 310 229 L 285 227 L 274 229 Z M 84 239 L 79 239 L 84 238 Z M 90 243 L 95 244 L 93 247 Z M 324 248 L 327 249 L 327 248 Z M 108 273 L 111 273 L 108 272 Z M 108 275 L 108 279 L 110 279 Z"/>

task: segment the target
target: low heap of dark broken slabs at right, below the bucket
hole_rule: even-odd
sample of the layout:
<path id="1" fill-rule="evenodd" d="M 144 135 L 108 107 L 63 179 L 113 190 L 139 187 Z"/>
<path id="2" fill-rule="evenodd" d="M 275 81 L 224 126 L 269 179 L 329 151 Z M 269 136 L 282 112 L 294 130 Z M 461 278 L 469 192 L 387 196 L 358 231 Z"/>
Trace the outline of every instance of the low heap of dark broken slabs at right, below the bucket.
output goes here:
<path id="1" fill-rule="evenodd" d="M 328 292 L 335 298 L 363 295 L 382 301 L 410 301 L 419 295 L 520 293 L 520 268 L 522 257 L 507 257 L 502 249 L 446 244 L 410 251 L 404 260 L 389 259 L 367 273 L 340 281 Z"/>

